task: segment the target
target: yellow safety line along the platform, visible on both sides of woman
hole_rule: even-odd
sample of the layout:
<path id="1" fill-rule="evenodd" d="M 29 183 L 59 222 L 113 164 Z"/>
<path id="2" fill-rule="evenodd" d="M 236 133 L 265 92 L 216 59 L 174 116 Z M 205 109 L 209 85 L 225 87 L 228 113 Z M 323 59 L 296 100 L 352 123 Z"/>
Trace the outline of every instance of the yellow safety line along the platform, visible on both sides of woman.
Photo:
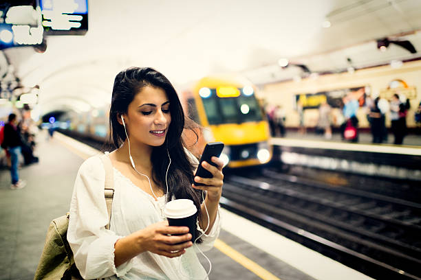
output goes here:
<path id="1" fill-rule="evenodd" d="M 89 154 L 85 154 L 84 152 L 80 152 L 78 149 L 74 148 L 72 145 L 69 145 L 69 143 L 66 143 L 62 139 L 55 138 L 58 142 L 60 142 L 62 145 L 67 148 L 70 152 L 73 152 L 74 154 L 80 156 L 82 159 L 89 158 Z M 215 248 L 220 250 L 222 253 L 233 259 L 234 261 L 237 261 L 237 263 L 241 264 L 241 266 L 244 266 L 251 272 L 253 272 L 255 275 L 260 277 L 263 280 L 281 280 L 278 277 L 272 275 L 272 273 L 268 272 L 268 270 L 262 268 L 258 264 L 256 264 L 251 259 L 248 259 L 248 257 L 245 257 L 241 253 L 239 253 L 237 250 L 233 249 L 232 247 L 228 246 L 225 242 L 222 240 L 215 240 Z"/>

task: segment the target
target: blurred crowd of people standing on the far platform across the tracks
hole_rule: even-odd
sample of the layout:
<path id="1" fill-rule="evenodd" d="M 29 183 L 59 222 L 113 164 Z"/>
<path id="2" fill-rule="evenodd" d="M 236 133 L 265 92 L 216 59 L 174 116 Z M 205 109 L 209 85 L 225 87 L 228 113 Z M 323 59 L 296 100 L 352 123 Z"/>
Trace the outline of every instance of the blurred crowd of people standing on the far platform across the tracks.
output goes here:
<path id="1" fill-rule="evenodd" d="M 358 110 L 363 108 L 369 123 L 372 143 L 387 143 L 388 132 L 393 134 L 393 143 L 400 145 L 407 135 L 407 112 L 410 108 L 409 99 L 405 95 L 395 93 L 390 100 L 382 97 L 367 96 L 363 105 L 355 95 L 347 95 L 342 99 L 342 108 L 339 115 L 332 113 L 332 107 L 323 100 L 319 106 L 318 120 L 315 132 L 323 135 L 325 139 L 332 139 L 332 127 L 338 124 L 343 141 L 358 142 Z M 272 137 L 285 137 L 286 114 L 281 105 L 266 104 L 266 117 L 270 125 Z M 304 124 L 303 106 L 300 100 L 296 104 L 296 113 L 299 116 L 300 134 L 306 132 Z M 390 119 L 389 129 L 386 126 L 386 115 Z M 415 110 L 415 124 L 418 132 L 421 132 L 421 102 Z"/>

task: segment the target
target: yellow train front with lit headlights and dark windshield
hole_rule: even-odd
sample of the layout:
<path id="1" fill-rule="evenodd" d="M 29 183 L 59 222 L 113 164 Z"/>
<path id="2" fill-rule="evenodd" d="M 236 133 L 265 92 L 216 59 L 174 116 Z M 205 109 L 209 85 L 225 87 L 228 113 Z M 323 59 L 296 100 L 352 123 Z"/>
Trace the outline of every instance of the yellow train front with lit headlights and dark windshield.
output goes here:
<path id="1" fill-rule="evenodd" d="M 238 76 L 205 77 L 182 93 L 188 115 L 201 124 L 199 152 L 211 141 L 225 143 L 228 167 L 262 165 L 272 159 L 268 121 L 255 86 Z"/>

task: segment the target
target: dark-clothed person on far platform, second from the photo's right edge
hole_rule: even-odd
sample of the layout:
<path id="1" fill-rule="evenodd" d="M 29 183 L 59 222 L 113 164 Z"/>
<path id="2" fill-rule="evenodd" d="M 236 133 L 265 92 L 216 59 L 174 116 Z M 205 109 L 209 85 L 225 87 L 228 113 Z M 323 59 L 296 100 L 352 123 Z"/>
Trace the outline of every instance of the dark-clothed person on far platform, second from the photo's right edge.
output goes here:
<path id="1" fill-rule="evenodd" d="M 395 137 L 393 143 L 401 145 L 407 134 L 407 109 L 399 99 L 397 93 L 393 94 L 390 101 L 391 130 Z"/>

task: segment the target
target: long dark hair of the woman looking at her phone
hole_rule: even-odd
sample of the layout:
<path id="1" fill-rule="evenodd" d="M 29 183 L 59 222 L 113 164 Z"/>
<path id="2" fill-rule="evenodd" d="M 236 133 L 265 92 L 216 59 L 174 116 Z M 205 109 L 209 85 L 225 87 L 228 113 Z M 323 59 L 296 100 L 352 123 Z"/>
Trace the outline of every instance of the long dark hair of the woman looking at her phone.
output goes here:
<path id="1" fill-rule="evenodd" d="M 165 176 L 166 168 L 169 165 L 168 152 L 171 156 L 171 165 L 167 177 L 169 192 L 167 198 L 169 200 L 173 197 L 193 200 L 200 215 L 201 191 L 191 187 L 194 167 L 184 150 L 185 145 L 182 139 L 184 128 L 192 128 L 194 122 L 184 115 L 182 104 L 173 85 L 162 73 L 149 67 L 130 67 L 116 75 L 109 110 L 109 142 L 114 145 L 114 148 L 118 149 L 125 141 L 125 130 L 118 123 L 117 118 L 119 115 L 127 113 L 129 104 L 144 86 L 163 89 L 170 102 L 171 123 L 164 144 L 153 147 L 151 154 L 153 181 L 160 186 L 162 191 L 166 190 Z M 185 126 L 186 122 L 188 127 Z"/>

